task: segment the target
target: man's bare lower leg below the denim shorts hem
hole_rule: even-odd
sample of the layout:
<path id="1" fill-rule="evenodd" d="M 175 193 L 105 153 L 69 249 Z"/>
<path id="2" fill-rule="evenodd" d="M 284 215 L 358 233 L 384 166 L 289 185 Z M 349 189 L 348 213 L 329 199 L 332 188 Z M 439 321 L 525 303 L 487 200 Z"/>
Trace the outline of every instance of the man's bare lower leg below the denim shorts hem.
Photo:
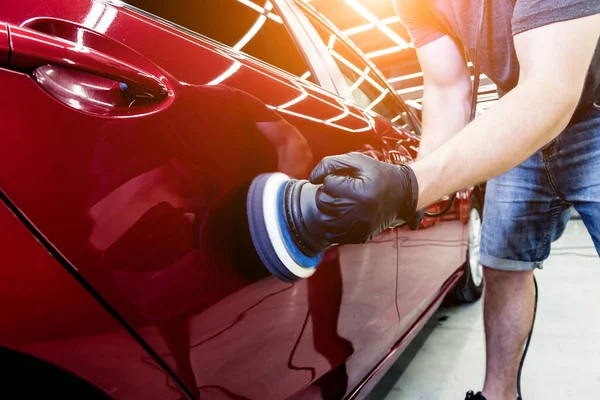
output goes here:
<path id="1" fill-rule="evenodd" d="M 484 275 L 487 368 L 483 395 L 487 400 L 515 400 L 519 362 L 533 319 L 533 271 L 486 267 Z"/>

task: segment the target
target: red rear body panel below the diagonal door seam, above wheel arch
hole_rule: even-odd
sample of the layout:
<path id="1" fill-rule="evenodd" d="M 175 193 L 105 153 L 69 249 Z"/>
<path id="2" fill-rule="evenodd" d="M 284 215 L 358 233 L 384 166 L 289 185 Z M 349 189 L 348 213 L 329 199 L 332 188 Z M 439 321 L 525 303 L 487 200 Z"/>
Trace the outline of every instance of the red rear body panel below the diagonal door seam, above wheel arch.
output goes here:
<path id="1" fill-rule="evenodd" d="M 182 398 L 152 357 L 3 203 L 0 226 L 0 346 L 60 366 L 114 398 Z M 43 378 L 35 374 L 31 370 L 32 385 Z M 3 397 L 21 398 L 5 383 Z"/>

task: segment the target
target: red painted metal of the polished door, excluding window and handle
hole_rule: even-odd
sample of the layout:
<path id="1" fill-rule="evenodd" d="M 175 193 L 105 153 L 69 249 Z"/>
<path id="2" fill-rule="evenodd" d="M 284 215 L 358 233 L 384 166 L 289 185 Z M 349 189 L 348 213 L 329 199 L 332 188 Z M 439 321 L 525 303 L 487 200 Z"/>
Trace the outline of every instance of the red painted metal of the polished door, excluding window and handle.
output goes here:
<path id="1" fill-rule="evenodd" d="M 97 4 L 111 7 L 20 2 L 6 21 L 85 24 Z M 19 94 L 2 100 L 11 110 L 2 190 L 194 394 L 284 398 L 348 358 L 356 360 L 350 384 L 361 379 L 398 337 L 395 236 L 333 249 L 307 281 L 266 276 L 240 225 L 250 180 L 282 160 L 252 126 L 261 121 L 249 120 L 259 106 L 245 101 L 255 100 L 230 88 L 306 138 L 304 176 L 326 155 L 380 148 L 379 122 L 278 70 L 114 9 L 103 11 L 112 22 L 102 35 L 164 71 L 170 104 L 97 115 L 57 101 L 27 74 L 0 71 L 3 87 Z M 194 56 L 182 63 L 173 54 Z M 227 87 L 215 84 L 220 76 Z"/>

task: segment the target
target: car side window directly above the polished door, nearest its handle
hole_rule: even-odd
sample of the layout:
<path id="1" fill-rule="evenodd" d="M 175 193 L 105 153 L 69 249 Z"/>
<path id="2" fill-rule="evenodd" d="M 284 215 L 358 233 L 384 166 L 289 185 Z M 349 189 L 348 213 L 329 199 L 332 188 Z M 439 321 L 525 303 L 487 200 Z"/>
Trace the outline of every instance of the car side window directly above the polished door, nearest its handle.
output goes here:
<path id="1" fill-rule="evenodd" d="M 125 2 L 314 82 L 308 64 L 269 0 Z"/>

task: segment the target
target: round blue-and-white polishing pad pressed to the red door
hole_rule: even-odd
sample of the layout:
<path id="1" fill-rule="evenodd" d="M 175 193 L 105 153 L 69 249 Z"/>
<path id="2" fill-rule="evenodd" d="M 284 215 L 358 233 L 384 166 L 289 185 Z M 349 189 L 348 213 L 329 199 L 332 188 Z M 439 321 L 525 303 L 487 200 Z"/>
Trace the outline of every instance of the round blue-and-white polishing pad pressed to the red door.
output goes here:
<path id="1" fill-rule="evenodd" d="M 308 278 L 316 270 L 294 261 L 286 247 L 279 218 L 283 207 L 281 189 L 289 181 L 279 172 L 259 175 L 250 185 L 246 204 L 250 236 L 258 256 L 269 272 L 286 282 Z"/>

